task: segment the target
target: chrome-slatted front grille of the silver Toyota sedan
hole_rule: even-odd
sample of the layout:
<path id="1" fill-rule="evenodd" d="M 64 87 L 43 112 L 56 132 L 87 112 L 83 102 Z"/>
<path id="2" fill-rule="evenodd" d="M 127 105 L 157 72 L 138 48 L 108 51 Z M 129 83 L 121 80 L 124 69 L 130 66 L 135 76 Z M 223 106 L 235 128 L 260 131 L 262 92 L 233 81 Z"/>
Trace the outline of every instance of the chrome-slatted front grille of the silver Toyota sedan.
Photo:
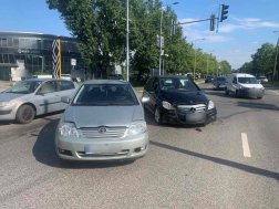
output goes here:
<path id="1" fill-rule="evenodd" d="M 100 133 L 101 128 L 105 128 L 105 133 Z M 126 132 L 126 127 L 92 127 L 81 128 L 84 138 L 122 138 Z"/>

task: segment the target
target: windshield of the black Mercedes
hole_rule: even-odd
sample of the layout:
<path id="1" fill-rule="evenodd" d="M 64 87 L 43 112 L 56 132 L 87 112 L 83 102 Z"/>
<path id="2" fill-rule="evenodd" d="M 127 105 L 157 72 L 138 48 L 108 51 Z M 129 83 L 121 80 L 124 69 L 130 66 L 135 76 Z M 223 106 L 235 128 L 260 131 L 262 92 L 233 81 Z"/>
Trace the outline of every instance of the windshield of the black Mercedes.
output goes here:
<path id="1" fill-rule="evenodd" d="M 159 87 L 162 91 L 198 91 L 196 85 L 189 79 L 180 79 L 180 77 L 168 77 L 168 79 L 159 79 Z"/>

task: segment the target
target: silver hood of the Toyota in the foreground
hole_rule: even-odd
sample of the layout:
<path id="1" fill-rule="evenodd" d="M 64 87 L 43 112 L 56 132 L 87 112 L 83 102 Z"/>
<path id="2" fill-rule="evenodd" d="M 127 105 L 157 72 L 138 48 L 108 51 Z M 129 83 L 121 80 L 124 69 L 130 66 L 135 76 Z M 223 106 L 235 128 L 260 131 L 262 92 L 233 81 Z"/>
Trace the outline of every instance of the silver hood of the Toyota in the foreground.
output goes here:
<path id="1" fill-rule="evenodd" d="M 68 106 L 65 122 L 74 122 L 76 127 L 126 126 L 134 121 L 144 121 L 141 105 L 135 106 Z"/>

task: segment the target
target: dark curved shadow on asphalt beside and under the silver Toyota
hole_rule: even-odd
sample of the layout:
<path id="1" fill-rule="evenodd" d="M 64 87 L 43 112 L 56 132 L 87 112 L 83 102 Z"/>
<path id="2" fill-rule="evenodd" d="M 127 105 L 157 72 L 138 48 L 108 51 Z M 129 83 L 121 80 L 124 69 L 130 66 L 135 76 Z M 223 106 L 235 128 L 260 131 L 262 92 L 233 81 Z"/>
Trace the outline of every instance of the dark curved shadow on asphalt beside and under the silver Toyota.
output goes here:
<path id="1" fill-rule="evenodd" d="M 51 121 L 51 119 L 50 119 Z M 62 161 L 55 151 L 54 137 L 56 132 L 56 126 L 60 119 L 53 119 L 48 123 L 38 135 L 38 139 L 33 147 L 33 156 L 41 164 L 66 169 L 84 169 L 84 168 L 106 168 L 125 166 L 132 164 L 133 161 L 110 161 L 110 163 L 92 163 L 92 161 L 79 161 L 79 163 L 66 163 Z M 32 136 L 37 136 L 31 134 Z"/>

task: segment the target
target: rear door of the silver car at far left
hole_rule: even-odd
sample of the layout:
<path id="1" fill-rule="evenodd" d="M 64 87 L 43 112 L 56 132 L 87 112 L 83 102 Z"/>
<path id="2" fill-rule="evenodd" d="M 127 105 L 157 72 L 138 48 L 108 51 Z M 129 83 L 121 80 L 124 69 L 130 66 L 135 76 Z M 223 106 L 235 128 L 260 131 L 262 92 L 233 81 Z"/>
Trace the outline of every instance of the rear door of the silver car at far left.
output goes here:
<path id="1" fill-rule="evenodd" d="M 75 92 L 75 86 L 74 83 L 71 81 L 58 81 L 58 86 L 59 86 L 59 97 L 60 97 L 60 107 L 59 109 L 65 109 L 68 104 L 62 103 L 61 98 L 63 96 L 72 98 L 74 92 Z"/>

